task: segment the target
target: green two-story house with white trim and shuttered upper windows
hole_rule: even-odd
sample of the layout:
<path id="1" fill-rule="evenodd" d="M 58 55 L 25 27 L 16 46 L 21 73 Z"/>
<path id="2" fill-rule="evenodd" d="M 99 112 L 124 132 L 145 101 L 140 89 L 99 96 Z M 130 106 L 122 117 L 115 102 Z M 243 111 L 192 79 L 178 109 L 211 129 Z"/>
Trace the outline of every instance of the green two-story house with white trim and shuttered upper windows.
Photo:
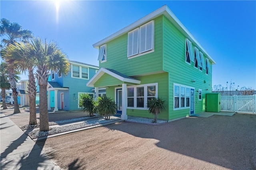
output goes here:
<path id="1" fill-rule="evenodd" d="M 147 100 L 162 97 L 159 119 L 175 120 L 205 111 L 215 61 L 167 6 L 95 43 L 100 70 L 87 86 L 106 95 L 127 115 L 150 117 Z"/>

